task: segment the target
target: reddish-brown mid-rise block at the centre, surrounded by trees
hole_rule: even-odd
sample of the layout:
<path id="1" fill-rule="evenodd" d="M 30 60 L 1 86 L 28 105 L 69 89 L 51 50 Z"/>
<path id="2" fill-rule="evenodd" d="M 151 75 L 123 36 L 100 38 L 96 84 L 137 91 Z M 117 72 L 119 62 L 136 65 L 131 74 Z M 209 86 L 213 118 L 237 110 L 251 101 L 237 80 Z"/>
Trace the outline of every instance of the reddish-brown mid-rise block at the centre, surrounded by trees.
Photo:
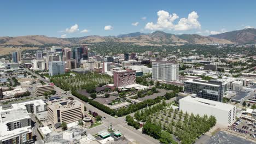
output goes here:
<path id="1" fill-rule="evenodd" d="M 114 87 L 125 87 L 136 83 L 136 70 L 114 71 Z"/>

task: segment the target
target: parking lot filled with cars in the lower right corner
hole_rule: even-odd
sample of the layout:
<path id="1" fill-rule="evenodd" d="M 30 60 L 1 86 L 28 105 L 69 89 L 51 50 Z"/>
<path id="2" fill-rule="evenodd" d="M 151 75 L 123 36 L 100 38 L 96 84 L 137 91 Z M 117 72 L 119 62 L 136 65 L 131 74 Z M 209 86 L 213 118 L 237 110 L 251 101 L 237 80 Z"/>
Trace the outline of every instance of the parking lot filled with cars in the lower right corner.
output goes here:
<path id="1" fill-rule="evenodd" d="M 256 123 L 247 119 L 238 119 L 230 128 L 242 136 L 256 140 Z"/>

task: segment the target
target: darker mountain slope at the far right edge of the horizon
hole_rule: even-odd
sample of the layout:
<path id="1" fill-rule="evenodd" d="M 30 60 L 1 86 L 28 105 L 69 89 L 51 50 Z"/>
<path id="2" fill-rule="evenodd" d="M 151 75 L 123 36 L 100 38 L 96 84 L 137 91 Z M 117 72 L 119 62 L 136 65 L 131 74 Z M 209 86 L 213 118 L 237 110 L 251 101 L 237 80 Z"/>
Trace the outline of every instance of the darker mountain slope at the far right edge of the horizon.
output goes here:
<path id="1" fill-rule="evenodd" d="M 246 28 L 239 31 L 210 35 L 209 37 L 226 39 L 238 44 L 256 44 L 256 29 Z"/>

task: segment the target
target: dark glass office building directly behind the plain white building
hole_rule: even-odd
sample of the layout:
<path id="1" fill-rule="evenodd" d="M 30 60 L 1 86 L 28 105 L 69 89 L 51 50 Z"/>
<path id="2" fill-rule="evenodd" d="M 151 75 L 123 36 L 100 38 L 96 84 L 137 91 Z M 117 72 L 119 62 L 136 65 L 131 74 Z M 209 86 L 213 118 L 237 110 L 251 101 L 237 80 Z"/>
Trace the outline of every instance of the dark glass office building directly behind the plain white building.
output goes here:
<path id="1" fill-rule="evenodd" d="M 184 91 L 197 94 L 198 97 L 214 101 L 222 101 L 226 93 L 228 82 L 222 79 L 197 80 L 189 79 L 184 82 Z"/>

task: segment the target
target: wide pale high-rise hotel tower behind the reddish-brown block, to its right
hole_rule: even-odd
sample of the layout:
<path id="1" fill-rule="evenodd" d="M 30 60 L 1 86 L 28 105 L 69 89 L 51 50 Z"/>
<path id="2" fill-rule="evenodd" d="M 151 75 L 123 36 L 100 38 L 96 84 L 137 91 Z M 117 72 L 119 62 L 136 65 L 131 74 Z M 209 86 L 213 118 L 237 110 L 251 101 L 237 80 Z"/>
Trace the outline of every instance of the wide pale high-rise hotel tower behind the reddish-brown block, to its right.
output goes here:
<path id="1" fill-rule="evenodd" d="M 152 62 L 152 79 L 166 82 L 178 80 L 179 64 L 171 61 Z"/>

